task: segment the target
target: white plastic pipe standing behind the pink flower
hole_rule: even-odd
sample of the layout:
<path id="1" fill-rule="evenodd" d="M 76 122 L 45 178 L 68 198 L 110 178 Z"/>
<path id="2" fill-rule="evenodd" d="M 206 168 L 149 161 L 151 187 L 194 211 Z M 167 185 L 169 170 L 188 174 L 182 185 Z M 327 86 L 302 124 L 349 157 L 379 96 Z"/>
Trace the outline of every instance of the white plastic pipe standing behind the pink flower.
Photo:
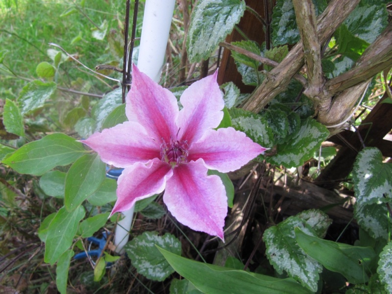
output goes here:
<path id="1" fill-rule="evenodd" d="M 146 0 L 138 68 L 158 82 L 161 77 L 175 0 Z M 116 252 L 121 253 L 128 242 L 134 207 L 124 211 L 124 218 L 117 223 L 114 236 Z"/>

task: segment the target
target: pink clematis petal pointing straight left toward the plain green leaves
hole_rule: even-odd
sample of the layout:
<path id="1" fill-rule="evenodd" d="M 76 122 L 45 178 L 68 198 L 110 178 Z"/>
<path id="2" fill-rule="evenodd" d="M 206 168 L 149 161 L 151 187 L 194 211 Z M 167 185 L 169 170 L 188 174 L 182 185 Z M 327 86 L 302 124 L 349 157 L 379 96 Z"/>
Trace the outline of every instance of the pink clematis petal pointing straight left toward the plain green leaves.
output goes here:
<path id="1" fill-rule="evenodd" d="M 118 168 L 160 158 L 160 143 L 153 141 L 143 127 L 134 122 L 103 129 L 81 142 L 98 152 L 103 162 Z"/>

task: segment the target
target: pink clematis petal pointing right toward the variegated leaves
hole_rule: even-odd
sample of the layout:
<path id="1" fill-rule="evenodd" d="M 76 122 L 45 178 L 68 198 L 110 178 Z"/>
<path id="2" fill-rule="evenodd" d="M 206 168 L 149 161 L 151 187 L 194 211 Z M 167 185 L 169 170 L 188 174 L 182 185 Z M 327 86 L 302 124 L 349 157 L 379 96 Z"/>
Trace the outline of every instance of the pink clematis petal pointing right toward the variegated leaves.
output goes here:
<path id="1" fill-rule="evenodd" d="M 238 170 L 267 148 L 254 143 L 232 127 L 208 130 L 188 149 L 188 160 L 202 158 L 205 166 L 219 172 Z"/>

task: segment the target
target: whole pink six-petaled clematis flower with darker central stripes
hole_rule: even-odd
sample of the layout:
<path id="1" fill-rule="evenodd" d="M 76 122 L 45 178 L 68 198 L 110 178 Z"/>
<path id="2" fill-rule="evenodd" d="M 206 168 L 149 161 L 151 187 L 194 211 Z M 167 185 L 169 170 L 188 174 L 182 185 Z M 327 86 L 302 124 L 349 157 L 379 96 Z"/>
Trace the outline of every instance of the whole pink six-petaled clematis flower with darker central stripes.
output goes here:
<path id="1" fill-rule="evenodd" d="M 186 89 L 179 111 L 174 95 L 133 65 L 129 122 L 82 141 L 103 162 L 125 168 L 112 214 L 165 190 L 163 200 L 177 221 L 223 240 L 227 196 L 221 178 L 207 171 L 235 171 L 266 148 L 232 127 L 214 129 L 224 107 L 217 74 Z"/>

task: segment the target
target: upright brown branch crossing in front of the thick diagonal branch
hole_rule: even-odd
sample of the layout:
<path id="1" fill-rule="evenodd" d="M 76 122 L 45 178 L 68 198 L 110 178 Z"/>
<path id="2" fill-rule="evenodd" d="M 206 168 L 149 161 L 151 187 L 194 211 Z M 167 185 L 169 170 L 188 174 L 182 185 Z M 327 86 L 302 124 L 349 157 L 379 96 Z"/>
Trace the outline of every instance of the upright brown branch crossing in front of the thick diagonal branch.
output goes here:
<path id="1" fill-rule="evenodd" d="M 301 35 L 309 85 L 304 94 L 309 98 L 319 96 L 325 79 L 321 68 L 321 50 L 317 36 L 316 11 L 312 0 L 293 0 L 295 20 Z"/>

